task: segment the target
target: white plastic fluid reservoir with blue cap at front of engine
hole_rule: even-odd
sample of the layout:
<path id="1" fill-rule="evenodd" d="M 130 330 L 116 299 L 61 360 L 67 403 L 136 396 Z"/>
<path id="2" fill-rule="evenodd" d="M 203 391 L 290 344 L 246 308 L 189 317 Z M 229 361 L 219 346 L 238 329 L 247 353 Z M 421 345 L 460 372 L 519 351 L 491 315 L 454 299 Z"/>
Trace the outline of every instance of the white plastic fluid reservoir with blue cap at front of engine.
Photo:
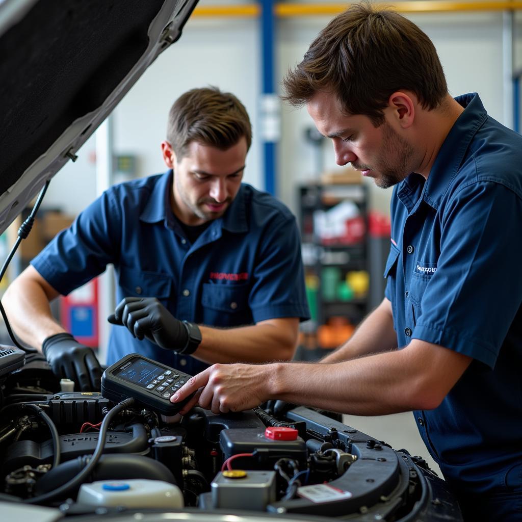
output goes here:
<path id="1" fill-rule="evenodd" d="M 78 503 L 89 506 L 180 508 L 184 506 L 180 488 L 162 480 L 98 480 L 82 484 Z"/>

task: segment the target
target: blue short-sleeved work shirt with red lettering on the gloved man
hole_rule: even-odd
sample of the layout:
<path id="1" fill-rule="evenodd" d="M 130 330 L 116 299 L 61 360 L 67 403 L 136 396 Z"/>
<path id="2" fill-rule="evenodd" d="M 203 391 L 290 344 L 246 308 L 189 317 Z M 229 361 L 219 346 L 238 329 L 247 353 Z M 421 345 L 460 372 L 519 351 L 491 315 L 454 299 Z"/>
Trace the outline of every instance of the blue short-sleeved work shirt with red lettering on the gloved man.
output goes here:
<path id="1" fill-rule="evenodd" d="M 109 188 L 31 264 L 67 295 L 112 263 L 116 303 L 156 297 L 174 317 L 207 326 L 309 318 L 299 231 L 286 206 L 243 183 L 191 244 L 170 206 L 172 182 L 170 170 Z M 114 326 L 108 364 L 132 352 L 189 374 L 208 366 Z"/>

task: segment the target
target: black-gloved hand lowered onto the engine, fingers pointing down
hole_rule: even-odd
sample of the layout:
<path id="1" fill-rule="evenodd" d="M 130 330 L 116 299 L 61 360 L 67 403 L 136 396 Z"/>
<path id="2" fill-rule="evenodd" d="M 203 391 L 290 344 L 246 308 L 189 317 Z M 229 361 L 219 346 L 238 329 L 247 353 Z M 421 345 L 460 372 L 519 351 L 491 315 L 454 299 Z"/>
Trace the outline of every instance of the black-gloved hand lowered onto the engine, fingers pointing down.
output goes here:
<path id="1" fill-rule="evenodd" d="M 42 351 L 57 377 L 71 379 L 82 392 L 99 392 L 102 370 L 92 348 L 63 333 L 46 338 Z"/>

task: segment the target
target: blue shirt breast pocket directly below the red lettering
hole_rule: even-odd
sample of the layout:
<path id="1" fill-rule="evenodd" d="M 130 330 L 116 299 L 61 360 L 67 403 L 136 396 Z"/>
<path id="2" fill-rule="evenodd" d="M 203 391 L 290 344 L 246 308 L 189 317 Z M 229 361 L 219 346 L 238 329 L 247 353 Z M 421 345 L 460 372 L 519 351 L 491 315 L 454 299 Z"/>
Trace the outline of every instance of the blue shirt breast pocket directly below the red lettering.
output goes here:
<path id="1" fill-rule="evenodd" d="M 239 326 L 252 323 L 248 307 L 249 284 L 204 283 L 201 304 L 205 324 Z"/>

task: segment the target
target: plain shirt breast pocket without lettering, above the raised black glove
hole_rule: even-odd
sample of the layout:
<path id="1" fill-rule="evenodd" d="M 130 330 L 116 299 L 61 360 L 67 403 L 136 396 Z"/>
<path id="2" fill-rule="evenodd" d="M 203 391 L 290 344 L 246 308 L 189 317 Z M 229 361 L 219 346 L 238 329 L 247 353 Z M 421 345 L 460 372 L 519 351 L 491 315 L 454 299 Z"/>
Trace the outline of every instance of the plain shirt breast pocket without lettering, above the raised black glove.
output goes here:
<path id="1" fill-rule="evenodd" d="M 121 267 L 118 283 L 122 299 L 124 297 L 155 297 L 166 305 L 172 294 L 172 277 L 161 272 Z"/>

